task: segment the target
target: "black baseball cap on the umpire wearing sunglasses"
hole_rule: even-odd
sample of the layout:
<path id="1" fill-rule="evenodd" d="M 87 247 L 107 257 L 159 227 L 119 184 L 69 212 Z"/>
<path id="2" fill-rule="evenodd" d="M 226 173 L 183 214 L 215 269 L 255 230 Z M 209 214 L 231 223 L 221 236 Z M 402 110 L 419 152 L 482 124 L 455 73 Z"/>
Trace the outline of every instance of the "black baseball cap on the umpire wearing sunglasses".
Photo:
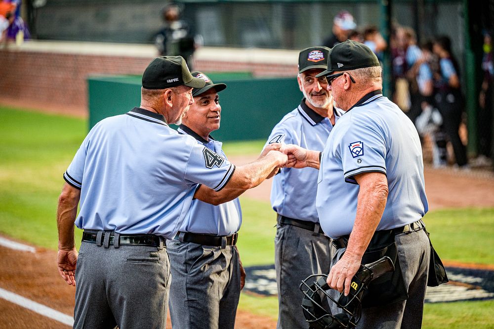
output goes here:
<path id="1" fill-rule="evenodd" d="M 379 66 L 377 56 L 371 48 L 360 42 L 347 40 L 329 50 L 328 69 L 316 77 L 330 75 L 334 71 L 346 71 L 363 67 Z"/>

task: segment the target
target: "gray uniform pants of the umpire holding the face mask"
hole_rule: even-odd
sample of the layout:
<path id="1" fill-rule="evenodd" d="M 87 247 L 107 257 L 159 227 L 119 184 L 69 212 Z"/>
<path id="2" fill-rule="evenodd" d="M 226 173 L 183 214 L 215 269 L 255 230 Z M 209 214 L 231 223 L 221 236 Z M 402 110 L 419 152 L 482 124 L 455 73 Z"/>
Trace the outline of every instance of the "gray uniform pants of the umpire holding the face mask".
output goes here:
<path id="1" fill-rule="evenodd" d="M 395 236 L 407 300 L 362 310 L 359 329 L 420 329 L 429 271 L 430 245 L 424 230 Z M 338 249 L 333 262 L 345 248 Z M 332 290 L 335 291 L 335 290 Z M 341 312 L 339 310 L 337 313 Z"/>

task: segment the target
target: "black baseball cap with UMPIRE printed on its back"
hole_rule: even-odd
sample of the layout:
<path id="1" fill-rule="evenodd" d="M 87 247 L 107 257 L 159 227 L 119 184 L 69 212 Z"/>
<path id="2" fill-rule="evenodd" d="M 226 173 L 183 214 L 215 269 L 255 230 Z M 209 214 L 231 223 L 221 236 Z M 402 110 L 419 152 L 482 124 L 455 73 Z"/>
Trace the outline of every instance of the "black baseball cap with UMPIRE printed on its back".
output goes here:
<path id="1" fill-rule="evenodd" d="M 194 78 L 182 56 L 160 56 L 149 63 L 142 74 L 145 89 L 166 89 L 176 86 L 202 88 L 203 79 Z"/>

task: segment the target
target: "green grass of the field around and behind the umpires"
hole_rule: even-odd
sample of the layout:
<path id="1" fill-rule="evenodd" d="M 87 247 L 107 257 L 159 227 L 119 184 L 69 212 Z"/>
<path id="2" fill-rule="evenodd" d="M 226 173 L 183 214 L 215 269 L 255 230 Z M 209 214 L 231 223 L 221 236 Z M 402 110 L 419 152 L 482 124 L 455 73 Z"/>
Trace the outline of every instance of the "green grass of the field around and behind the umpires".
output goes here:
<path id="1" fill-rule="evenodd" d="M 0 106 L 0 233 L 56 250 L 62 175 L 86 134 L 85 120 Z M 255 155 L 264 141 L 227 142 L 229 156 Z M 275 214 L 269 202 L 241 198 L 239 238 L 246 266 L 272 264 Z M 438 210 L 425 222 L 444 260 L 494 264 L 494 208 Z M 80 241 L 77 231 L 76 241 Z M 466 248 L 465 246 L 468 246 Z M 494 301 L 427 304 L 424 328 L 494 328 Z M 242 294 L 240 308 L 277 317 L 275 297 Z"/>

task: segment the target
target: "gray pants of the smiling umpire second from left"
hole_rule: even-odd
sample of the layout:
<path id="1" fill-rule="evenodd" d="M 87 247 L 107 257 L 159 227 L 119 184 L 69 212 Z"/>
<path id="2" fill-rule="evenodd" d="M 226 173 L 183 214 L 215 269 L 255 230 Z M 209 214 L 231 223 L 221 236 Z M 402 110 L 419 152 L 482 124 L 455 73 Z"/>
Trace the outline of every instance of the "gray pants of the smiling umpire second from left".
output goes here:
<path id="1" fill-rule="evenodd" d="M 166 242 L 173 329 L 233 329 L 240 298 L 237 248 Z"/>

